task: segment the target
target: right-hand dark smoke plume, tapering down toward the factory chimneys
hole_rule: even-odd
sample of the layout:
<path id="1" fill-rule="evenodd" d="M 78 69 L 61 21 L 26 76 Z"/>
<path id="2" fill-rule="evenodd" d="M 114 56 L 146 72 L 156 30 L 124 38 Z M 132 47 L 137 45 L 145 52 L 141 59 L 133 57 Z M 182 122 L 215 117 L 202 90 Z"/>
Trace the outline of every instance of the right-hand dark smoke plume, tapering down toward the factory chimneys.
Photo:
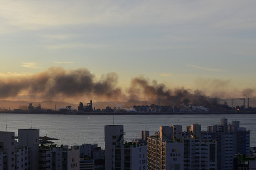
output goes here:
<path id="1" fill-rule="evenodd" d="M 128 90 L 129 102 L 135 103 L 138 100 L 151 101 L 157 103 L 160 98 L 160 105 L 172 105 L 174 100 L 175 105 L 203 105 L 210 108 L 219 108 L 219 100 L 211 98 L 203 94 L 202 91 L 192 91 L 189 89 L 174 89 L 166 87 L 164 84 L 158 84 L 153 80 L 150 82 L 144 77 L 137 77 L 131 81 L 131 86 Z"/>

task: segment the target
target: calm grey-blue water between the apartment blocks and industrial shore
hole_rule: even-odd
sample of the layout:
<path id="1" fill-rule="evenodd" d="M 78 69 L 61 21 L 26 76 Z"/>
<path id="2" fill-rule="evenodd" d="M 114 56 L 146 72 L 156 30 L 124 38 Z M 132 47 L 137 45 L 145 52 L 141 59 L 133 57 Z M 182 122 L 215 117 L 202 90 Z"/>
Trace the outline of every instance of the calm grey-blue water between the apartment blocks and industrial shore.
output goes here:
<path id="1" fill-rule="evenodd" d="M 140 130 L 149 130 L 153 135 L 159 126 L 182 125 L 183 131 L 190 124 L 201 124 L 202 130 L 208 125 L 220 124 L 221 118 L 239 120 L 240 127 L 251 130 L 251 146 L 256 146 L 256 115 L 114 115 L 114 124 L 123 125 L 124 140 L 140 138 Z M 58 138 L 58 145 L 81 145 L 97 143 L 105 148 L 104 125 L 113 125 L 113 115 L 47 115 L 47 114 L 0 114 L 1 131 L 18 129 L 40 129 L 40 136 Z"/>

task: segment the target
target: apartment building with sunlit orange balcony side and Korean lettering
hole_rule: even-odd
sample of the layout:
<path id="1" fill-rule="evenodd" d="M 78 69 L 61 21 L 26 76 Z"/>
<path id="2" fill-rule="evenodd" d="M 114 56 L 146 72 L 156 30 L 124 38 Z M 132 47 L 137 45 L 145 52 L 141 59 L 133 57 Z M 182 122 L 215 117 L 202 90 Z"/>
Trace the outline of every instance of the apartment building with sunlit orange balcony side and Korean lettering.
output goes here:
<path id="1" fill-rule="evenodd" d="M 159 135 L 148 137 L 148 170 L 183 170 L 182 126 L 160 126 Z"/>

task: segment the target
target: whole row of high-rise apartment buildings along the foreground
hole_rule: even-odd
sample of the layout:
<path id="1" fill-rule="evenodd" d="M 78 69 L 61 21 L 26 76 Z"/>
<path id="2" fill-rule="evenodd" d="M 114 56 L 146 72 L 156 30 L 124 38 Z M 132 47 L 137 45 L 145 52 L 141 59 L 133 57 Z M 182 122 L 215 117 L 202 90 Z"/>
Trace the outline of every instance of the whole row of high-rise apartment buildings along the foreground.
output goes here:
<path id="1" fill-rule="evenodd" d="M 254 170 L 250 133 L 240 121 L 228 124 L 222 118 L 207 130 L 200 124 L 185 131 L 182 125 L 165 125 L 154 135 L 141 130 L 139 139 L 126 141 L 123 125 L 105 125 L 101 149 L 98 144 L 53 145 L 39 129 L 19 129 L 18 136 L 1 131 L 0 170 Z"/>

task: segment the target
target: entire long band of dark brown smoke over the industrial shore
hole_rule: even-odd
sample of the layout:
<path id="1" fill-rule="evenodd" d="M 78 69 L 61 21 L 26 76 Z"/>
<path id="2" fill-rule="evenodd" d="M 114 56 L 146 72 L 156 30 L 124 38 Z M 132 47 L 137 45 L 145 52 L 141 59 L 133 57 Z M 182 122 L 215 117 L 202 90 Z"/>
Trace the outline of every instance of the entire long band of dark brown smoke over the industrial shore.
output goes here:
<path id="1" fill-rule="evenodd" d="M 87 69 L 64 70 L 53 67 L 41 73 L 27 76 L 0 78 L 0 98 L 15 98 L 24 96 L 40 99 L 94 97 L 96 100 L 121 100 L 127 105 L 149 105 L 157 103 L 160 98 L 161 105 L 203 105 L 204 107 L 219 107 L 217 98 L 208 97 L 202 91 L 184 88 L 174 89 L 150 81 L 144 77 L 131 80 L 131 85 L 123 93 L 117 87 L 116 73 L 102 75 L 96 80 L 95 75 Z M 254 93 L 254 89 L 244 89 L 242 92 Z"/>

